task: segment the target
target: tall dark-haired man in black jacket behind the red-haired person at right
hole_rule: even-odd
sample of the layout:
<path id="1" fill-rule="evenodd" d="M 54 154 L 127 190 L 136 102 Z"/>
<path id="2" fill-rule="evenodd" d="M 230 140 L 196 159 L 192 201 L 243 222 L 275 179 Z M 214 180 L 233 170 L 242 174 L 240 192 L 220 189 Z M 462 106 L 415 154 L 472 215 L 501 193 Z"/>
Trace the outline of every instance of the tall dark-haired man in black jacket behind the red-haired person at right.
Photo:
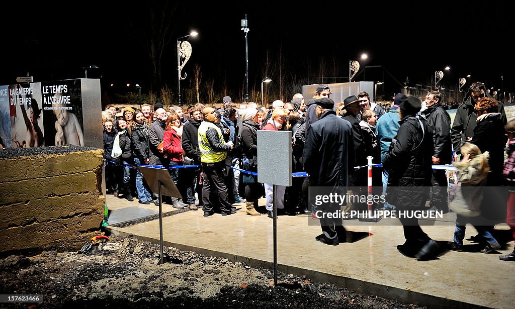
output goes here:
<path id="1" fill-rule="evenodd" d="M 486 92 L 485 84 L 482 82 L 472 83 L 469 86 L 469 91 L 465 95 L 463 102 L 458 106 L 451 129 L 452 146 L 456 155 L 460 154 L 462 144 L 474 136 L 474 128 L 476 127 L 477 119 L 474 105 L 477 100 L 484 97 L 492 98 L 492 96 Z M 501 103 L 499 103 L 499 113 L 501 113 L 501 120 L 506 125 L 506 113 L 504 112 L 504 105 Z"/>

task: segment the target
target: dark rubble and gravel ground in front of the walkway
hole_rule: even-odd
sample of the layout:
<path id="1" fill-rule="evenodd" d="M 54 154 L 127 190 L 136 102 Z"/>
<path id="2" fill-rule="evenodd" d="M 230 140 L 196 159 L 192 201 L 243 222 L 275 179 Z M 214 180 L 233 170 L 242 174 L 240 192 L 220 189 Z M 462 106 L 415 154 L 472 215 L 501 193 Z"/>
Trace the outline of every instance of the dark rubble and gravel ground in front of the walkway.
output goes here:
<path id="1" fill-rule="evenodd" d="M 45 251 L 0 260 L 0 294 L 40 294 L 42 303 L 0 308 L 418 308 L 362 296 L 292 274 L 252 268 L 194 251 L 165 247 L 170 263 L 156 266 L 159 245 L 112 236 L 88 253 Z"/>

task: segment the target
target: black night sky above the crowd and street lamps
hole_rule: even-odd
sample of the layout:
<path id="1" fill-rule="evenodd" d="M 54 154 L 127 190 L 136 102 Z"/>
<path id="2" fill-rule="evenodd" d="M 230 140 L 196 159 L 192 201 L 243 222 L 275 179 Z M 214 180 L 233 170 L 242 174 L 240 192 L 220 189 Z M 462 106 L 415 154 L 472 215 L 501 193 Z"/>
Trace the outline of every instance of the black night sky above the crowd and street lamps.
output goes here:
<path id="1" fill-rule="evenodd" d="M 320 83 L 320 63 L 326 67 L 325 83 L 345 82 L 348 61 L 362 52 L 362 63 L 381 68 L 366 69 L 356 81 L 385 81 L 385 91 L 394 94 L 408 78 L 410 84 L 430 83 L 435 70 L 444 71 L 443 85 L 457 84 L 470 74 L 473 81 L 515 92 L 513 86 L 513 5 L 509 2 L 396 3 L 373 6 L 372 2 L 338 4 L 259 2 L 252 6 L 222 2 L 187 2 L 170 13 L 173 31 L 162 56 L 162 82 L 177 85 L 176 39 L 190 38 L 193 53 L 183 72 L 193 77 L 199 64 L 204 79 L 218 86 L 227 81 L 232 91 L 243 87 L 245 41 L 241 20 L 249 23 L 249 82 L 259 88 L 264 77 L 265 56 L 277 67 L 282 51 L 288 74 L 305 83 Z M 130 4 L 128 6 L 128 4 Z M 420 7 L 420 5 L 423 5 Z M 170 7 L 176 5 L 170 3 Z M 188 6 L 189 5 L 189 6 Z M 488 6 L 486 6 L 488 5 Z M 4 67 L 0 84 L 15 83 L 27 71 L 35 81 L 83 78 L 83 67 L 95 64 L 105 84 L 139 83 L 147 92 L 151 62 L 141 29 L 148 28 L 155 2 L 53 2 L 33 5 L 3 5 Z M 77 7 L 78 6 L 78 7 Z M 159 4 L 162 6 L 162 4 Z M 335 77 L 336 75 L 336 77 Z M 504 80 L 501 80 L 501 76 Z M 181 82 L 188 85 L 188 79 Z"/>

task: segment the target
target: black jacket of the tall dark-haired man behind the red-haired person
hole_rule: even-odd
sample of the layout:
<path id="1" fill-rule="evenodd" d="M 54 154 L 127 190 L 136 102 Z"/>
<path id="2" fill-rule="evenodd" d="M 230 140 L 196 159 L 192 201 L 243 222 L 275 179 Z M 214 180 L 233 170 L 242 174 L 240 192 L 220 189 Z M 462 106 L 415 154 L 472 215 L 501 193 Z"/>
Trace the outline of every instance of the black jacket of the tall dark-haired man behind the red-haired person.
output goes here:
<path id="1" fill-rule="evenodd" d="M 485 97 L 491 98 L 492 96 L 485 92 Z M 474 128 L 476 127 L 477 119 L 474 105 L 475 103 L 472 100 L 469 90 L 463 102 L 458 106 L 454 122 L 452 123 L 451 140 L 456 154 L 460 154 L 461 145 L 467 142 L 467 137 L 474 136 Z M 501 113 L 503 125 L 506 125 L 506 113 L 504 111 L 504 105 L 501 103 L 499 103 L 499 113 Z"/>

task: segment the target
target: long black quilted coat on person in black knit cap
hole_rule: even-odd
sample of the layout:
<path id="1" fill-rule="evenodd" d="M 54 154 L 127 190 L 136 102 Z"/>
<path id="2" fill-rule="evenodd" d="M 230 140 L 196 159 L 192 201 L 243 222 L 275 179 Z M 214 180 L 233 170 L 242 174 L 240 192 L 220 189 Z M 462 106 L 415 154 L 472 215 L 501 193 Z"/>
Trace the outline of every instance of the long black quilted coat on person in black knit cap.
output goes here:
<path id="1" fill-rule="evenodd" d="M 431 127 L 414 116 L 404 117 L 400 123 L 383 161 L 389 173 L 387 202 L 401 208 L 424 207 L 432 176 Z"/>

